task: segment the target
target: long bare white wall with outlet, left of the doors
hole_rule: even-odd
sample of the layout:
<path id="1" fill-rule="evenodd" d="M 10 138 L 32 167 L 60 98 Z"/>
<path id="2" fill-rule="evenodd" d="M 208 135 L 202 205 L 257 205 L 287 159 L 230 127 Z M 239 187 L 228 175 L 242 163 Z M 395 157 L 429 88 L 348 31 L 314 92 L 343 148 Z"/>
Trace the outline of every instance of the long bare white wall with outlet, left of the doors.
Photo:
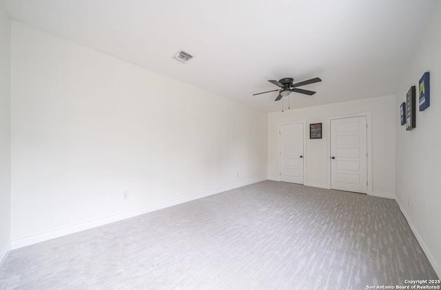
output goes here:
<path id="1" fill-rule="evenodd" d="M 266 179 L 263 112 L 16 21 L 11 73 L 12 247 Z"/>

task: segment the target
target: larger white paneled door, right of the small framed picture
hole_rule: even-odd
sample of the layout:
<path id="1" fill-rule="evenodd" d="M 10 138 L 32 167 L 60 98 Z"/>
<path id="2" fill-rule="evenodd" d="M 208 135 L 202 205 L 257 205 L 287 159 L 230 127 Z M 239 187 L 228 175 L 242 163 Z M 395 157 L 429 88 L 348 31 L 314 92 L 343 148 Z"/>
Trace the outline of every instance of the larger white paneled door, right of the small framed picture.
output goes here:
<path id="1" fill-rule="evenodd" d="M 366 116 L 331 120 L 331 188 L 367 193 Z"/>

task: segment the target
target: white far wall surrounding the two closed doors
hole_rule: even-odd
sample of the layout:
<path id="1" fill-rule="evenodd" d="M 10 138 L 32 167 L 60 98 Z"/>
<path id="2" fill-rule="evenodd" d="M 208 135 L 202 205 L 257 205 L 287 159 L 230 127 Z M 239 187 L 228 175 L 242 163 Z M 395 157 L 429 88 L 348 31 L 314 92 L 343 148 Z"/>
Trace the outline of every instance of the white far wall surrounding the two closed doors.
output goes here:
<path id="1" fill-rule="evenodd" d="M 295 100 L 296 97 L 304 96 L 292 96 L 291 100 Z M 270 113 L 268 115 L 268 178 L 278 180 L 278 125 L 305 120 L 307 122 L 307 153 L 305 155 L 307 180 L 305 184 L 329 188 L 327 118 L 371 112 L 373 194 L 393 197 L 395 194 L 395 109 L 395 97 L 384 96 Z M 322 139 L 309 139 L 310 123 L 322 123 Z"/>

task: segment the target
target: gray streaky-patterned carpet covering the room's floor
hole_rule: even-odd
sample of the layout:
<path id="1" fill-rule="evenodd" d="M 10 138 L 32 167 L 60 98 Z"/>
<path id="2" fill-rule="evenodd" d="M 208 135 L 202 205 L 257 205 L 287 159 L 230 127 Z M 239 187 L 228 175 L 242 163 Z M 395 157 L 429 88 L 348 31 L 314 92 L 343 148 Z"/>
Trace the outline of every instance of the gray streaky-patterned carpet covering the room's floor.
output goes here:
<path id="1" fill-rule="evenodd" d="M 395 200 L 264 181 L 12 251 L 0 289 L 367 289 L 436 277 Z"/>

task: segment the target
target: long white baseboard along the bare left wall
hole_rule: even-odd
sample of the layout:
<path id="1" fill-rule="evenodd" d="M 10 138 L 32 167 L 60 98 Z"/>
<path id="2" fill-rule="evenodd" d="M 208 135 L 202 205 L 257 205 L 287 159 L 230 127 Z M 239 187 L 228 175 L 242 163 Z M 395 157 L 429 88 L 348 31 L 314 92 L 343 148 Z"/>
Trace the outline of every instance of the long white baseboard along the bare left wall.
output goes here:
<path id="1" fill-rule="evenodd" d="M 238 187 L 243 187 L 245 185 L 251 185 L 253 183 L 259 183 L 260 181 L 267 180 L 267 177 L 260 177 L 253 180 L 247 180 L 242 183 L 236 183 L 234 185 L 228 185 L 225 187 L 220 187 L 212 189 L 209 191 L 203 191 L 198 194 L 192 194 L 189 196 L 184 196 L 182 198 L 176 198 L 174 200 L 169 200 L 164 203 L 158 203 L 156 205 L 150 205 L 147 207 L 141 207 L 139 209 L 134 209 L 132 211 L 126 211 L 122 214 L 116 214 L 114 216 L 106 216 L 105 218 L 99 218 L 97 220 L 91 220 L 89 222 L 83 222 L 78 225 L 72 225 L 70 227 L 63 227 L 60 229 L 53 229 L 51 231 L 45 231 L 41 233 L 34 234 L 26 238 L 20 238 L 11 241 L 12 249 L 19 249 L 28 245 L 36 244 L 37 242 L 43 242 L 45 240 L 51 240 L 52 238 L 59 238 L 61 236 L 66 236 L 69 234 L 74 234 L 78 231 L 84 231 L 85 229 L 92 229 L 93 227 L 99 227 L 101 225 L 107 225 L 110 222 L 116 222 L 118 220 L 125 220 L 126 218 L 132 218 L 134 216 L 139 216 L 141 214 L 147 214 L 150 211 L 156 211 L 158 209 L 164 209 L 165 207 L 172 207 L 173 205 L 179 205 L 181 203 L 187 203 L 187 201 L 196 200 L 198 198 L 203 198 L 205 196 L 212 196 L 213 194 L 218 194 L 223 191 L 235 189 Z"/>

